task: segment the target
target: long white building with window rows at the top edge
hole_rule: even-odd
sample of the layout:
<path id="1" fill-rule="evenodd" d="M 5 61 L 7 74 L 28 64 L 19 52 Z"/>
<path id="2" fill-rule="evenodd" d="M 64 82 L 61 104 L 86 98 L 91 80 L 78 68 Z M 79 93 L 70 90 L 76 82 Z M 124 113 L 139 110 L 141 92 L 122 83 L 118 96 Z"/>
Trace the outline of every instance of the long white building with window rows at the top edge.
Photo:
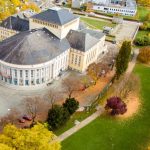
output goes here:
<path id="1" fill-rule="evenodd" d="M 135 16 L 137 12 L 135 0 L 72 0 L 72 7 L 80 8 L 87 2 L 93 3 L 93 10 L 104 13 Z"/>

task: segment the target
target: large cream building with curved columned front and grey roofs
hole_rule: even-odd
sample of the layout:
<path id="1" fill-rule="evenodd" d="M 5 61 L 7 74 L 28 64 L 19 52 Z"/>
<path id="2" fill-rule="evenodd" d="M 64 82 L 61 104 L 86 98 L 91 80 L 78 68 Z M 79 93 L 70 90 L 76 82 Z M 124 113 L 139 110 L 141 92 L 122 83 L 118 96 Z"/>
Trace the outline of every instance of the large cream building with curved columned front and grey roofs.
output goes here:
<path id="1" fill-rule="evenodd" d="M 46 86 L 68 68 L 85 72 L 107 51 L 105 34 L 79 28 L 79 17 L 53 8 L 29 19 L 29 30 L 0 42 L 0 83 Z"/>

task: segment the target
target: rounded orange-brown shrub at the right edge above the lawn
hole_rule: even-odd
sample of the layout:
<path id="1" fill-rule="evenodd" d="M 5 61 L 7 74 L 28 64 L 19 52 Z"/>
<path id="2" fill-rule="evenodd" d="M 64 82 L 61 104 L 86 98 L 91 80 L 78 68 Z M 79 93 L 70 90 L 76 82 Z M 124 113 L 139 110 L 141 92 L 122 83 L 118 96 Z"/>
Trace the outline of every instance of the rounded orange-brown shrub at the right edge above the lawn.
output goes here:
<path id="1" fill-rule="evenodd" d="M 150 46 L 140 49 L 138 60 L 142 63 L 150 63 Z"/>

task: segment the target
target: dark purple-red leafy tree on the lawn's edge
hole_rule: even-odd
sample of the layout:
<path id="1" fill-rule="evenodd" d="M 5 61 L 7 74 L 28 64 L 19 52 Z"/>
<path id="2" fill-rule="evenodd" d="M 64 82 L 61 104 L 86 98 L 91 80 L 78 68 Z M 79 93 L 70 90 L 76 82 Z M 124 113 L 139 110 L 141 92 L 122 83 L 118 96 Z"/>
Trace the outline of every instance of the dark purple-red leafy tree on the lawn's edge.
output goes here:
<path id="1" fill-rule="evenodd" d="M 110 109 L 111 115 L 122 115 L 127 111 L 126 104 L 119 97 L 111 97 L 107 99 L 105 109 Z"/>

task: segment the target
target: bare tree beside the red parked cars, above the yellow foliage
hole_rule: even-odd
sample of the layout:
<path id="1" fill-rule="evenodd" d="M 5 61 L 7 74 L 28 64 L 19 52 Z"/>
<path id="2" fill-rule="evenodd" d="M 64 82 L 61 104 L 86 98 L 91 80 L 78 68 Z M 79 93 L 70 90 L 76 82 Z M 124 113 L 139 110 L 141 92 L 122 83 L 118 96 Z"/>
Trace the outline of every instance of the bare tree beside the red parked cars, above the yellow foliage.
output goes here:
<path id="1" fill-rule="evenodd" d="M 47 117 L 49 105 L 40 97 L 29 97 L 24 101 L 25 111 L 31 116 L 31 126 L 35 124 L 37 116 Z M 43 120 L 43 119 L 42 119 Z"/>

